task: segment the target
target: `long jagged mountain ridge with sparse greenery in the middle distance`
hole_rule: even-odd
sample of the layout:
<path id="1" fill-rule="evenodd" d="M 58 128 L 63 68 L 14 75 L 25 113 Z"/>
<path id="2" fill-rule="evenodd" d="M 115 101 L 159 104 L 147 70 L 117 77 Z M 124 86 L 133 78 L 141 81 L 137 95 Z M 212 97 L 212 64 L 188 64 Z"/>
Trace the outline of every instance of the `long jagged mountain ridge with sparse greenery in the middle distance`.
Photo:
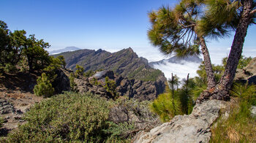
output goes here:
<path id="1" fill-rule="evenodd" d="M 162 79 L 162 71 L 148 66 L 146 58 L 139 58 L 132 48 L 109 53 L 105 50 L 77 50 L 61 53 L 64 55 L 67 68 L 75 70 L 75 65 L 83 66 L 85 71 L 98 69 L 112 70 L 129 79 L 156 81 Z M 57 55 L 56 55 L 57 56 Z"/>

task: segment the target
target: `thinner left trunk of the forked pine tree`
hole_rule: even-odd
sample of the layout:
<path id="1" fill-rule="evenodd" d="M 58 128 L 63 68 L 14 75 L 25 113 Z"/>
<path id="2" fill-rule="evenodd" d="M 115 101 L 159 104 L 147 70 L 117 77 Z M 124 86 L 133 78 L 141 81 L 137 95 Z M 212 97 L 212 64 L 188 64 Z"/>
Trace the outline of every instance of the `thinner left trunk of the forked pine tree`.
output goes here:
<path id="1" fill-rule="evenodd" d="M 203 53 L 203 61 L 206 69 L 206 75 L 207 75 L 207 89 L 210 90 L 211 88 L 214 88 L 215 85 L 217 85 L 214 77 L 214 70 L 211 66 L 211 58 L 209 51 L 206 47 L 206 41 L 203 37 L 200 37 L 200 46 Z"/>

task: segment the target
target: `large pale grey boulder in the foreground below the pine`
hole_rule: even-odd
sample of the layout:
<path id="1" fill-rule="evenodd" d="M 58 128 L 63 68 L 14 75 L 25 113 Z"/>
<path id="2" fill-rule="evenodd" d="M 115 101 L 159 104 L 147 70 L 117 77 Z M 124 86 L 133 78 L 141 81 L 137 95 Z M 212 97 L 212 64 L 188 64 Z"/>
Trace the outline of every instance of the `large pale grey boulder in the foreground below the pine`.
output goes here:
<path id="1" fill-rule="evenodd" d="M 203 104 L 197 104 L 191 115 L 177 115 L 170 123 L 163 123 L 148 133 L 140 131 L 133 141 L 135 143 L 209 142 L 211 125 L 219 117 L 219 110 L 227 107 L 225 101 L 205 101 Z"/>

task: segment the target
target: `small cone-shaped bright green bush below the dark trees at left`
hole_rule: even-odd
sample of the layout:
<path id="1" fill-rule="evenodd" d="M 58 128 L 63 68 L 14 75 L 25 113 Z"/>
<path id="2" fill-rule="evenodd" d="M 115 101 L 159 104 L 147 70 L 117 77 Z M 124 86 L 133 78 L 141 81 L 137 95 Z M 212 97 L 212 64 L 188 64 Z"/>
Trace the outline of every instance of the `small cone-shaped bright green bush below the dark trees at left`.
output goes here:
<path id="1" fill-rule="evenodd" d="M 54 88 L 52 88 L 50 80 L 48 80 L 45 73 L 42 73 L 41 77 L 37 79 L 37 85 L 34 86 L 34 94 L 46 98 L 53 96 L 53 92 Z"/>

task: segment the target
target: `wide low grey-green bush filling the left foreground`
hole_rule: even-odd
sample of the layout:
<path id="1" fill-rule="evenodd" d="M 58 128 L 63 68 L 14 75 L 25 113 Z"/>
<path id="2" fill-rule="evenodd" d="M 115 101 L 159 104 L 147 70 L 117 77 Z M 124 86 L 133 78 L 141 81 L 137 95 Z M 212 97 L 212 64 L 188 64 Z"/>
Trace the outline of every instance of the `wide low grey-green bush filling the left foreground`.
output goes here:
<path id="1" fill-rule="evenodd" d="M 64 93 L 26 112 L 17 131 L 0 142 L 128 142 L 120 134 L 128 124 L 108 120 L 113 101 L 90 93 Z"/>

